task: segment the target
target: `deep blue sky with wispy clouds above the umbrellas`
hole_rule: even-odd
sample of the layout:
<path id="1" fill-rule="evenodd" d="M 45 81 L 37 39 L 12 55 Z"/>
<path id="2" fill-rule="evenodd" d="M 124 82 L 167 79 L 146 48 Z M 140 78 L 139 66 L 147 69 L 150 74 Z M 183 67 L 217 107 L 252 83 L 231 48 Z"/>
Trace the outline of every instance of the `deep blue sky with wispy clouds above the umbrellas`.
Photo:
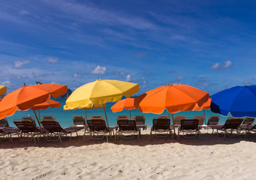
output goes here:
<path id="1" fill-rule="evenodd" d="M 254 1 L 5 1 L 0 84 L 100 79 L 140 93 L 187 84 L 210 95 L 255 84 Z"/>

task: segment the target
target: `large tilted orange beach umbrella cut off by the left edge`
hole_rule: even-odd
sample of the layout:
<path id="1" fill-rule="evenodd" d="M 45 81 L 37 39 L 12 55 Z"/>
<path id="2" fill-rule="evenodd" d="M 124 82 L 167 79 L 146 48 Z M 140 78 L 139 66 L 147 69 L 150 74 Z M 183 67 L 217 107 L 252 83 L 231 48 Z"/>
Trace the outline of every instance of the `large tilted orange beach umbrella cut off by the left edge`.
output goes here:
<path id="1" fill-rule="evenodd" d="M 50 87 L 52 89 L 50 89 Z M 57 98 L 65 94 L 68 87 L 65 85 L 35 85 L 23 86 L 9 93 L 0 101 L 0 118 L 14 115 L 16 110 L 28 110 L 35 104 L 41 104 L 50 99 L 50 95 Z M 39 123 L 39 120 L 38 120 Z M 40 125 L 40 123 L 39 123 Z"/>

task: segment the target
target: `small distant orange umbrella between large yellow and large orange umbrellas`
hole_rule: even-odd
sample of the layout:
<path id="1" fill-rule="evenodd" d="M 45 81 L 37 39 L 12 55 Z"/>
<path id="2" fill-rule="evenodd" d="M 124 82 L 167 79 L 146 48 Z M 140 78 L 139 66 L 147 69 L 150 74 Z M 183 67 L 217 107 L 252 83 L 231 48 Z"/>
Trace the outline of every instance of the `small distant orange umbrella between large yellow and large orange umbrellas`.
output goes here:
<path id="1" fill-rule="evenodd" d="M 120 112 L 123 109 L 129 110 L 130 118 L 131 118 L 131 110 L 136 109 L 136 107 L 134 106 L 134 98 L 126 98 L 126 99 L 117 101 L 116 104 L 114 104 L 111 107 L 111 111 L 113 113 Z"/>

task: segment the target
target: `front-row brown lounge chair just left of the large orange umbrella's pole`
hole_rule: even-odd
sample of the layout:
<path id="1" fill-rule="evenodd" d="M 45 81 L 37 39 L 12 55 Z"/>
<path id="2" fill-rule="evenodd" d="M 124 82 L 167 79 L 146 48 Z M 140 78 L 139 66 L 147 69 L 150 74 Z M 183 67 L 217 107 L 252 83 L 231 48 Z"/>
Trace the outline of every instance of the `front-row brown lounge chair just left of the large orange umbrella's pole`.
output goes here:
<path id="1" fill-rule="evenodd" d="M 170 118 L 168 116 L 153 118 L 152 127 L 150 130 L 150 137 L 152 137 L 152 132 L 155 133 L 155 136 L 164 136 L 167 137 L 171 134 L 170 128 Z"/>

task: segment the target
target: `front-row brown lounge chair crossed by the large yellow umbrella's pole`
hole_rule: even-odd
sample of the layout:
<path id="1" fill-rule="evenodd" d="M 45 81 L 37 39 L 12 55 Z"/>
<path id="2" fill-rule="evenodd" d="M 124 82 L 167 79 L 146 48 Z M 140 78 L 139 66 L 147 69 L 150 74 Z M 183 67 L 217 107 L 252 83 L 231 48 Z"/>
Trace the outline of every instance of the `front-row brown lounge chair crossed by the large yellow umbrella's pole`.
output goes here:
<path id="1" fill-rule="evenodd" d="M 90 139 L 103 139 L 104 136 L 108 137 L 107 133 L 113 133 L 113 130 L 115 127 L 109 127 L 107 128 L 106 122 L 104 118 L 93 118 L 93 119 L 87 119 L 87 124 L 89 127 L 89 133 L 90 133 Z"/>

